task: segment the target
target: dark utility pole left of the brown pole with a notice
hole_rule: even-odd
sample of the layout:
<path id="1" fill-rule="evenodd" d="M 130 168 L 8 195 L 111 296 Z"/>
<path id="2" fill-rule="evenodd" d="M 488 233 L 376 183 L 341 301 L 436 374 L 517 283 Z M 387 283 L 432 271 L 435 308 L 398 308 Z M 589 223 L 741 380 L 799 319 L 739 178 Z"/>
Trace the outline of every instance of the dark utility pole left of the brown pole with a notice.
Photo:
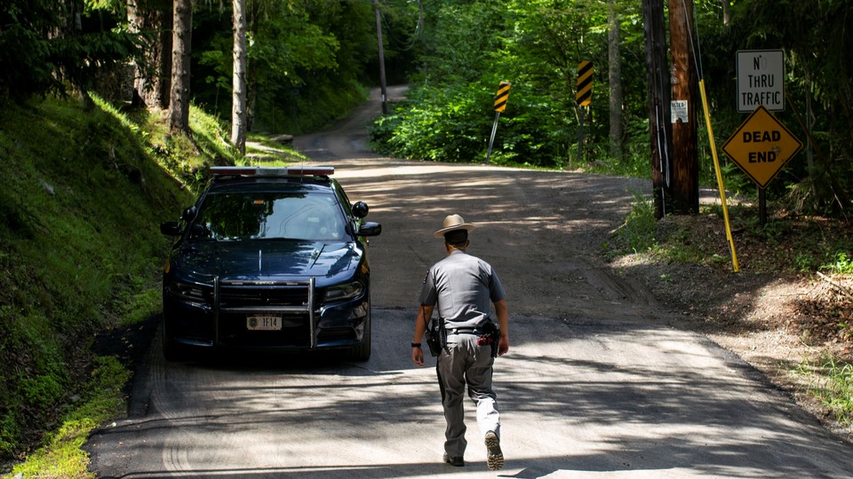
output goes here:
<path id="1" fill-rule="evenodd" d="M 666 61 L 663 0 L 642 0 L 642 18 L 646 37 L 646 78 L 649 88 L 651 186 L 655 217 L 660 219 L 668 213 L 667 203 L 671 196 L 669 152 L 672 150 L 670 79 Z"/>

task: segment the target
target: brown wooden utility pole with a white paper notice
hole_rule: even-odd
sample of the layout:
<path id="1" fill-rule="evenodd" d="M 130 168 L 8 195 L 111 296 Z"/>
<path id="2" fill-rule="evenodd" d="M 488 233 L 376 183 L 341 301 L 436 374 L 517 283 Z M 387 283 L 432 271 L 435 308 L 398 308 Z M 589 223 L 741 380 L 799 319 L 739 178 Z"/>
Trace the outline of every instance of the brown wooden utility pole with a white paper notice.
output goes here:
<path id="1" fill-rule="evenodd" d="M 697 78 L 690 50 L 693 26 L 693 0 L 669 0 L 670 51 L 673 55 L 673 99 L 680 101 L 680 117 L 674 118 L 673 213 L 696 215 L 699 212 L 699 161 L 697 156 L 696 92 Z M 676 105 L 676 106 L 679 106 Z"/>

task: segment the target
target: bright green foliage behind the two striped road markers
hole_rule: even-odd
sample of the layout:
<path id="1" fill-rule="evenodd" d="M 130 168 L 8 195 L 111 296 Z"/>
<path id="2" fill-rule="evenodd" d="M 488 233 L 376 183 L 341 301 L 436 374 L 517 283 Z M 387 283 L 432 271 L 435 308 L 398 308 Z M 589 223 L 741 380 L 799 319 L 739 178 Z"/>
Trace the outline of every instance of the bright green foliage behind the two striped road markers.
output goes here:
<path id="1" fill-rule="evenodd" d="M 494 122 L 495 91 L 506 80 L 512 87 L 490 161 L 539 168 L 586 166 L 578 161 L 574 88 L 580 59 L 592 59 L 597 71 L 606 71 L 601 3 L 449 1 L 425 10 L 428 35 L 419 51 L 421 67 L 412 76 L 410 101 L 391 118 L 378 120 L 371 132 L 376 145 L 395 156 L 482 161 Z M 639 28 L 633 21 L 636 11 L 626 8 L 623 13 L 626 33 L 632 35 L 623 48 L 632 55 L 642 46 L 634 35 Z M 599 76 L 594 89 L 594 98 L 606 98 Z M 626 97 L 632 103 L 643 98 L 642 90 L 626 91 L 641 92 Z M 606 130 L 590 120 L 606 112 L 606 101 L 594 101 L 584 131 L 584 156 L 603 169 L 625 169 L 597 145 Z"/>

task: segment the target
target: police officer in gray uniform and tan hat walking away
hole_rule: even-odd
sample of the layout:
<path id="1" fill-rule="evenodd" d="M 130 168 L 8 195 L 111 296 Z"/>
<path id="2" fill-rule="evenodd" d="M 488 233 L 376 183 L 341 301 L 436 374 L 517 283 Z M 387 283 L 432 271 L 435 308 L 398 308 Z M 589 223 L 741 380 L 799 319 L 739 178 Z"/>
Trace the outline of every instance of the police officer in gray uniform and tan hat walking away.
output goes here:
<path id="1" fill-rule="evenodd" d="M 444 462 L 465 465 L 462 400 L 467 386 L 468 396 L 477 405 L 477 425 L 486 445 L 487 465 L 498 470 L 504 466 L 504 455 L 500 450 L 500 420 L 491 373 L 495 356 L 509 350 L 509 313 L 498 274 L 489 263 L 466 253 L 468 232 L 473 230 L 474 224 L 465 223 L 462 216 L 450 215 L 444 218 L 442 229 L 434 232 L 436 238 L 444 239 L 447 256 L 426 272 L 411 358 L 416 365 L 424 365 L 420 341 L 437 303 L 439 320 L 443 320 L 447 332 L 447 345 L 435 367 L 447 421 Z M 490 302 L 494 304 L 497 325 L 489 315 Z M 491 334 L 495 329 L 499 333 Z"/>

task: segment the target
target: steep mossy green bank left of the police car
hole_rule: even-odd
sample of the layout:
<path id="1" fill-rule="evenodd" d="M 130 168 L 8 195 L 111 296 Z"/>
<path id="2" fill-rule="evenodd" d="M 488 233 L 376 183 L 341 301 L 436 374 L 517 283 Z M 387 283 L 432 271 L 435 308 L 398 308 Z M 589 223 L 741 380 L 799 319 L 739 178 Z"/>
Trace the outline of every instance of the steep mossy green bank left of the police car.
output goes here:
<path id="1" fill-rule="evenodd" d="M 0 108 L 0 473 L 86 475 L 79 447 L 124 413 L 131 375 L 94 338 L 157 313 L 160 222 L 192 201 L 205 165 L 240 159 L 195 109 L 188 138 L 100 101 Z"/>

